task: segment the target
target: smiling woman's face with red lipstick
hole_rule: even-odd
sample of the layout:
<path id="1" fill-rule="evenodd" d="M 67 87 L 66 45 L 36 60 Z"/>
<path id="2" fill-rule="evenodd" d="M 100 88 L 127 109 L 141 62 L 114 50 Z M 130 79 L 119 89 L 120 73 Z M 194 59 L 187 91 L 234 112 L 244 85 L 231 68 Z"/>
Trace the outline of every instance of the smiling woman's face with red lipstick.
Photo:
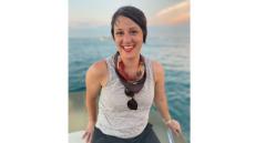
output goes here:
<path id="1" fill-rule="evenodd" d="M 143 44 L 143 31 L 139 24 L 120 16 L 113 29 L 114 41 L 121 57 L 124 59 L 137 58 Z"/>

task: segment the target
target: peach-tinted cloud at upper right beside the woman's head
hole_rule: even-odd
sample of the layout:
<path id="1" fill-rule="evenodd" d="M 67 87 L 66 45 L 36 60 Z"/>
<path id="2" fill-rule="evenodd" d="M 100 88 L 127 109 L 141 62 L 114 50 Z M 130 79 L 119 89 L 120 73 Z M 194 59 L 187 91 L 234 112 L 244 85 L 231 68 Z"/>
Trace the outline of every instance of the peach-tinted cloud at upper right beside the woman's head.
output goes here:
<path id="1" fill-rule="evenodd" d="M 150 24 L 175 25 L 190 21 L 190 1 L 182 1 L 160 10 L 149 20 Z"/>

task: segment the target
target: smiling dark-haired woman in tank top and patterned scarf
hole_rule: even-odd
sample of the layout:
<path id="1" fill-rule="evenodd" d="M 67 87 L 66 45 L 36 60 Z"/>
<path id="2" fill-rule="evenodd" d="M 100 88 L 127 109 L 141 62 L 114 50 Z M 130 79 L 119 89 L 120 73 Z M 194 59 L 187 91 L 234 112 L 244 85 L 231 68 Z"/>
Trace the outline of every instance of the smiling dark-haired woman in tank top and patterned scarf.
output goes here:
<path id="1" fill-rule="evenodd" d="M 149 123 L 153 101 L 165 125 L 181 133 L 169 113 L 162 65 L 141 55 L 147 34 L 144 13 L 122 7 L 111 27 L 118 52 L 86 72 L 89 122 L 83 139 L 88 143 L 160 143 Z"/>

